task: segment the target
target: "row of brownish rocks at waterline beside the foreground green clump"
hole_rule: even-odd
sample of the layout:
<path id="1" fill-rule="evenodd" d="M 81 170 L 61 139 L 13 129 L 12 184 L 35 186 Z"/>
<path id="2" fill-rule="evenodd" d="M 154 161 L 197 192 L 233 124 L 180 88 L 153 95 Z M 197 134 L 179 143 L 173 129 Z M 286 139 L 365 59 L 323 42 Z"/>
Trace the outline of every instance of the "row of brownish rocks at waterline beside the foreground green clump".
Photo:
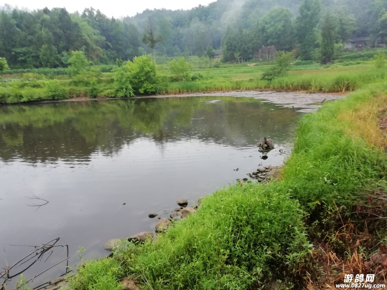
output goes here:
<path id="1" fill-rule="evenodd" d="M 201 199 L 202 198 L 200 198 L 197 201 L 197 205 L 195 205 L 194 207 L 188 206 L 188 201 L 185 198 L 182 198 L 182 199 L 176 201 L 176 203 L 180 207 L 175 208 L 172 211 L 172 213 L 170 214 L 170 218 L 161 218 L 158 215 L 158 213 L 151 212 L 148 214 L 149 218 L 155 218 L 155 217 L 158 218 L 158 221 L 156 223 L 155 232 L 140 232 L 138 234 L 132 235 L 132 236 L 130 236 L 128 238 L 124 238 L 124 239 L 111 239 L 104 244 L 103 248 L 105 250 L 112 251 L 113 249 L 116 249 L 116 248 L 122 246 L 123 241 L 124 242 L 126 242 L 126 241 L 131 242 L 132 241 L 132 242 L 143 243 L 143 242 L 147 241 L 148 239 L 154 240 L 154 239 L 156 239 L 156 235 L 165 232 L 172 225 L 172 222 L 176 222 L 182 218 L 188 217 L 188 215 L 190 215 L 192 213 L 195 213 L 198 206 L 200 205 Z"/>

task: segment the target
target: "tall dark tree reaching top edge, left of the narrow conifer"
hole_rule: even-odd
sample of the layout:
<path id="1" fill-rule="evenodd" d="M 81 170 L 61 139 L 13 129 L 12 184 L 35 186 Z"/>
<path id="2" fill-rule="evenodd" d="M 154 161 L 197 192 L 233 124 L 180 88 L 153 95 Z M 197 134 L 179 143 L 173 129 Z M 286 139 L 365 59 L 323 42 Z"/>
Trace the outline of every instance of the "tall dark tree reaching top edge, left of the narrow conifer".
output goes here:
<path id="1" fill-rule="evenodd" d="M 315 35 L 313 29 L 320 20 L 320 0 L 303 0 L 300 15 L 296 18 L 296 33 L 300 56 L 303 60 L 312 60 Z"/>

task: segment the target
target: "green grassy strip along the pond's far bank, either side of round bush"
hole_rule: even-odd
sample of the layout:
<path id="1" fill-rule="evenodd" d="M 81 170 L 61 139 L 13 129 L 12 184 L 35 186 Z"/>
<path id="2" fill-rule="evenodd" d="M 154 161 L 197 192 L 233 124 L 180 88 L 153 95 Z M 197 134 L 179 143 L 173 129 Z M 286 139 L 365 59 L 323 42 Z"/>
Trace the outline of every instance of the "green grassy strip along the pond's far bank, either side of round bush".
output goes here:
<path id="1" fill-rule="evenodd" d="M 164 94 L 256 89 L 343 92 L 358 89 L 385 76 L 385 69 L 375 69 L 371 61 L 351 64 L 293 65 L 288 75 L 271 82 L 260 80 L 270 65 L 248 67 L 244 63 L 233 67 L 194 68 L 192 73 L 196 79 L 181 82 L 170 81 L 172 76 L 164 64 L 159 65 L 159 72 L 164 75 L 161 85 Z M 111 67 L 102 67 L 102 71 L 104 69 L 111 70 Z M 94 79 L 74 80 L 64 74 L 65 70 L 36 69 L 38 73 L 4 75 L 5 80 L 12 81 L 0 82 L 0 103 L 116 96 L 113 73 L 100 73 Z"/>

